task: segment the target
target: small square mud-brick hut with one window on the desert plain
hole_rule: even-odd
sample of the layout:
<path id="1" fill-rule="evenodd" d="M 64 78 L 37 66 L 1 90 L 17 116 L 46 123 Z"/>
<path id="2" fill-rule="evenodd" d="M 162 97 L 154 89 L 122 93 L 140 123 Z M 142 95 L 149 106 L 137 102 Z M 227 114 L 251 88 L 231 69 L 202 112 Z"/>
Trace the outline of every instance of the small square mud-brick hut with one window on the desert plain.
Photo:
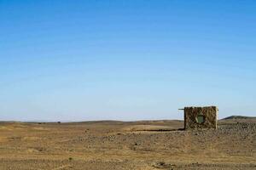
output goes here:
<path id="1" fill-rule="evenodd" d="M 217 129 L 218 107 L 185 107 L 184 111 L 184 128 L 215 128 Z"/>

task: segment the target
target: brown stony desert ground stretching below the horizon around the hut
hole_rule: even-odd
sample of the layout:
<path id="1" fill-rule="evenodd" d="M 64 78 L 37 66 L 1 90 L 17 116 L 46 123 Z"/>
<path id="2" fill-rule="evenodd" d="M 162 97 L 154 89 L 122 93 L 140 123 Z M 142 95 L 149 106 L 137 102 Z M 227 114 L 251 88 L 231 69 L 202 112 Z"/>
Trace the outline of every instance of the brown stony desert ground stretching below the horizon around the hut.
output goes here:
<path id="1" fill-rule="evenodd" d="M 256 119 L 0 122 L 0 169 L 256 169 Z"/>

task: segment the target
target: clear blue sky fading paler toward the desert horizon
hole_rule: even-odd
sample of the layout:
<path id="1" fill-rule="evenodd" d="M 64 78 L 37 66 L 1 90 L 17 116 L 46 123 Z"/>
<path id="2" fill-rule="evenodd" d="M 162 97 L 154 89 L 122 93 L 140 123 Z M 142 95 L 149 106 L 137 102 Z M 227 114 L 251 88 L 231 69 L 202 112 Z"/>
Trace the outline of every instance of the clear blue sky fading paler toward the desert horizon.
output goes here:
<path id="1" fill-rule="evenodd" d="M 256 1 L 0 0 L 0 120 L 256 116 Z"/>

